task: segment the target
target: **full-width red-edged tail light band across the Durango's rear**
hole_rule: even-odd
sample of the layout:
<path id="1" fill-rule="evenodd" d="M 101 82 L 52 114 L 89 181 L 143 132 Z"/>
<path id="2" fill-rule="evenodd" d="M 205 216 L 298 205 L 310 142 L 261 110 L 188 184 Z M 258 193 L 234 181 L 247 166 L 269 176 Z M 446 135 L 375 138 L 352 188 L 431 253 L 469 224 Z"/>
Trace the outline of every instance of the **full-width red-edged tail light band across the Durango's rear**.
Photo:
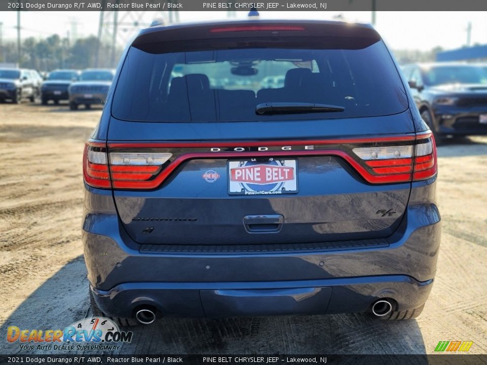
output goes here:
<path id="1" fill-rule="evenodd" d="M 86 184 L 95 188 L 147 190 L 158 188 L 181 163 L 191 159 L 309 155 L 339 156 L 370 184 L 425 180 L 437 172 L 436 145 L 431 133 L 361 140 L 267 142 L 269 146 L 298 146 L 276 151 L 260 150 L 261 142 L 247 142 L 249 148 L 242 150 L 235 149 L 234 144 L 228 143 L 226 151 L 222 148 L 207 152 L 216 143 L 111 143 L 107 151 L 105 143 L 89 142 L 83 174 Z M 309 144 L 314 144 L 314 148 L 307 149 Z"/>

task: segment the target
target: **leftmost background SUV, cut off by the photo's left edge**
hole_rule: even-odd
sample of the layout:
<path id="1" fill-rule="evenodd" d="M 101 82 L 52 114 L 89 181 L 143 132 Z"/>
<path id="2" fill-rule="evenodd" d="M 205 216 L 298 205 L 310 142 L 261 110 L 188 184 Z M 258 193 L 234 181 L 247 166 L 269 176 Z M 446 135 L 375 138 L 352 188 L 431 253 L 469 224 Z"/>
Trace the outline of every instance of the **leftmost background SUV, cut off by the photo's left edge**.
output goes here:
<path id="1" fill-rule="evenodd" d="M 39 95 L 39 79 L 41 76 L 36 70 L 0 68 L 0 101 L 10 99 L 13 103 L 20 103 L 22 98 L 28 98 L 34 102 Z"/>

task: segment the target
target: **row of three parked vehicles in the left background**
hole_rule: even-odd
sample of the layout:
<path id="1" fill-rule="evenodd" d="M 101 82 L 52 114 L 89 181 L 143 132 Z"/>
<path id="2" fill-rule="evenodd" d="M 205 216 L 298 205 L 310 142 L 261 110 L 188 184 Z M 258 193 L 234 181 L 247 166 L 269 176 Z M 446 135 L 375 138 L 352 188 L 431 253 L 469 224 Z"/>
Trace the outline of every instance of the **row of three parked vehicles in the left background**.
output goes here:
<path id="1" fill-rule="evenodd" d="M 22 98 L 28 98 L 34 102 L 40 98 L 41 103 L 47 105 L 50 101 L 58 104 L 60 100 L 68 100 L 72 110 L 82 104 L 89 108 L 93 104 L 105 103 L 114 76 L 113 69 L 58 69 L 50 72 L 43 81 L 36 70 L 2 68 L 0 101 L 20 103 Z"/>

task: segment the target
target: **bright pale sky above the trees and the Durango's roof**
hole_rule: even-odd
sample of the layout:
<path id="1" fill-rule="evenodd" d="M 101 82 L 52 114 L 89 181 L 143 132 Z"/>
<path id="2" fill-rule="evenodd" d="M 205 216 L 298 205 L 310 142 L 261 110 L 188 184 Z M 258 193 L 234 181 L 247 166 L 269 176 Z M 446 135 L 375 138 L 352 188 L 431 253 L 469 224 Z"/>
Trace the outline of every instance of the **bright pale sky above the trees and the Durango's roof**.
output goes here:
<path id="1" fill-rule="evenodd" d="M 123 12 L 119 13 L 119 17 Z M 182 21 L 224 19 L 226 12 L 180 12 Z M 272 19 L 326 19 L 342 15 L 350 21 L 370 22 L 370 12 L 261 12 L 261 18 Z M 16 37 L 16 12 L 0 13 L 4 42 Z M 98 31 L 98 12 L 22 12 L 22 36 L 44 38 L 53 33 L 78 37 Z M 159 17 L 157 12 L 146 12 L 144 21 Z M 236 12 L 237 18 L 247 12 Z M 128 18 L 127 18 L 128 19 Z M 430 50 L 435 46 L 454 49 L 465 45 L 466 28 L 472 22 L 471 42 L 487 44 L 487 12 L 377 12 L 376 29 L 393 49 Z M 124 31 L 122 27 L 122 32 Z M 125 28 L 125 33 L 132 30 Z M 123 38 L 123 37 L 122 37 Z"/>

